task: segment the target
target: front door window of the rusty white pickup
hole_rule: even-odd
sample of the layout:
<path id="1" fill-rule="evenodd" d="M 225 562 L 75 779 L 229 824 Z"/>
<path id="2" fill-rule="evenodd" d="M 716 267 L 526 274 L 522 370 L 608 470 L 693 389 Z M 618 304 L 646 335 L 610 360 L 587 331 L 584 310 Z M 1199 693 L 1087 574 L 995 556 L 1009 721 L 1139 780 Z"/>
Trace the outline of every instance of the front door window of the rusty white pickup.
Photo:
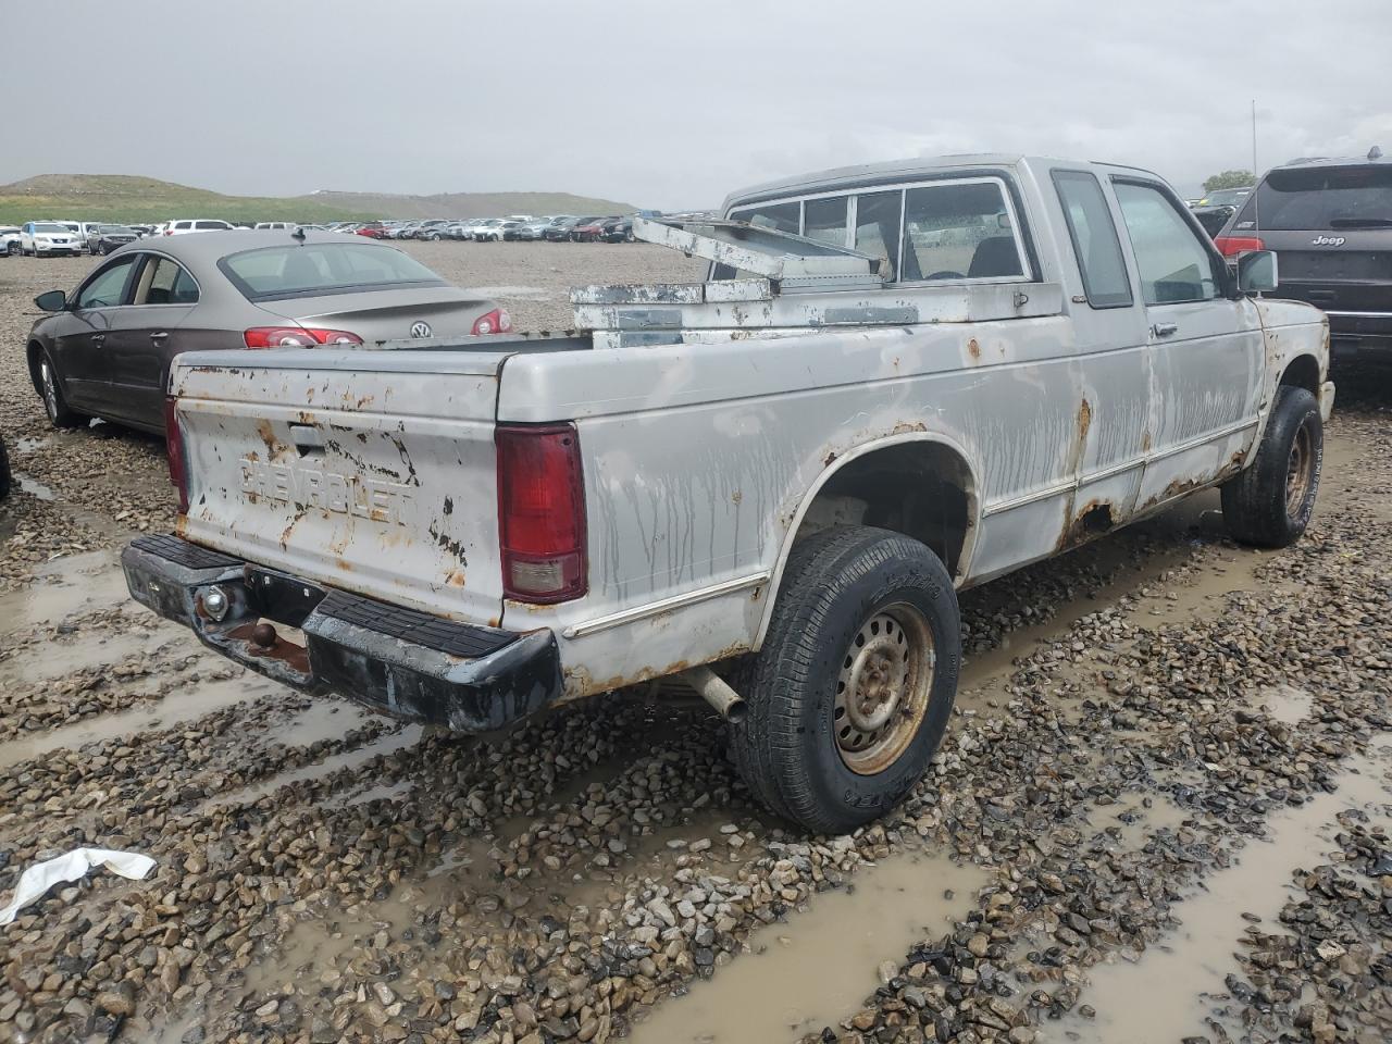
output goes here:
<path id="1" fill-rule="evenodd" d="M 1116 181 L 1116 202 L 1130 235 L 1147 305 L 1212 301 L 1221 292 L 1215 258 L 1154 185 Z"/>

